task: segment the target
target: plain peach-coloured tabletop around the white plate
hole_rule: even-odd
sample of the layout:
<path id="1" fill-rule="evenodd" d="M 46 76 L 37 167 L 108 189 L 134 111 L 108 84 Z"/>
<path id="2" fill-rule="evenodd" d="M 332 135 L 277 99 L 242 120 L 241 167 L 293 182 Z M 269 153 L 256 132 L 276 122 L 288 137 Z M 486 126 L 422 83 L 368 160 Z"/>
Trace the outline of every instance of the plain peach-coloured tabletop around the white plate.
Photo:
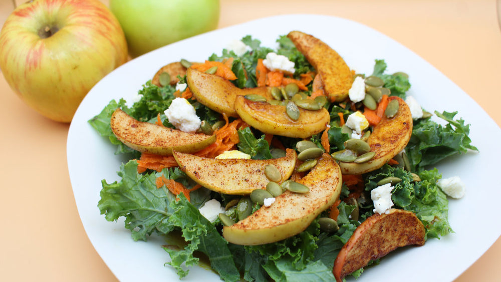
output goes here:
<path id="1" fill-rule="evenodd" d="M 501 32 L 495 0 L 220 3 L 220 28 L 281 14 L 322 14 L 365 24 L 431 63 L 501 125 Z M 2 25 L 10 5 L 10 0 L 0 0 Z M 4 152 L 0 280 L 116 280 L 90 243 L 77 212 L 66 163 L 69 125 L 28 108 L 0 77 L 0 148 Z M 499 224 L 496 215 L 486 216 Z M 497 239 L 456 281 L 500 281 L 500 263 L 501 239 Z"/>

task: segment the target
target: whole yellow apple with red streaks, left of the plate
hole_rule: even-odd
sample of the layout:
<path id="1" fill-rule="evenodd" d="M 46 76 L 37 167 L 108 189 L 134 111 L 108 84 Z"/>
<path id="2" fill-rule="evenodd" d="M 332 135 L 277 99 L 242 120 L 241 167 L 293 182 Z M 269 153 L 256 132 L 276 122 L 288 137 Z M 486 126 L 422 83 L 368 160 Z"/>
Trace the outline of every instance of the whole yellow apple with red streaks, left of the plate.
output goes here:
<path id="1" fill-rule="evenodd" d="M 89 90 L 128 59 L 120 24 L 98 0 L 32 0 L 0 33 L 0 68 L 23 101 L 70 122 Z"/>

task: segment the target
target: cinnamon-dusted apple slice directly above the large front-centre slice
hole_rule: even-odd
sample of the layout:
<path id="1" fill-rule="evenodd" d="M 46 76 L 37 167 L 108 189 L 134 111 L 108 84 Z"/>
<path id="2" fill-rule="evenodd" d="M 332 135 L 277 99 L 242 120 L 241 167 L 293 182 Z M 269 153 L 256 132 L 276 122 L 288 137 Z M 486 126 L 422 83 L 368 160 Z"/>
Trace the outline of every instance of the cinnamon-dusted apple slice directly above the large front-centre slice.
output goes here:
<path id="1" fill-rule="evenodd" d="M 265 189 L 270 180 L 265 166 L 273 164 L 280 171 L 282 183 L 296 166 L 296 151 L 287 149 L 285 157 L 268 160 L 213 159 L 174 152 L 179 168 L 203 187 L 223 194 L 248 195 L 254 189 Z"/>

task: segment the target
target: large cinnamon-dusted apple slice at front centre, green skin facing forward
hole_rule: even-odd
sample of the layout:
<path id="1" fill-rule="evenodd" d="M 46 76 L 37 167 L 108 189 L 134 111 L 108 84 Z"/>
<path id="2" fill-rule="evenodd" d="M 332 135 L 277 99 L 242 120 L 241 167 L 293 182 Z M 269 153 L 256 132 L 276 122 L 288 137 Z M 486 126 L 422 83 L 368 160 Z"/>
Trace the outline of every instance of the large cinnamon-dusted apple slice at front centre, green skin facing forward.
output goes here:
<path id="1" fill-rule="evenodd" d="M 296 235 L 339 198 L 343 181 L 338 164 L 324 153 L 317 165 L 297 182 L 308 186 L 310 191 L 304 194 L 285 191 L 271 206 L 262 206 L 245 219 L 224 226 L 224 238 L 234 244 L 258 245 Z"/>

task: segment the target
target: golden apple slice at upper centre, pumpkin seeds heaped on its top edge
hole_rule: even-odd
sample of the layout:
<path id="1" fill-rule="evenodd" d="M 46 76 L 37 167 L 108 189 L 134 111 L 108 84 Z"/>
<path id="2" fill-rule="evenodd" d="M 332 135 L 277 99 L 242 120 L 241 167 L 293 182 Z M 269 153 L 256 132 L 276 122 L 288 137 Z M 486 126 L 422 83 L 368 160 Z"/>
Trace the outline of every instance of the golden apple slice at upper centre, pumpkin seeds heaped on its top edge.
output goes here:
<path id="1" fill-rule="evenodd" d="M 248 125 L 268 134 L 307 138 L 322 132 L 329 124 L 329 112 L 299 109 L 299 119 L 293 120 L 286 113 L 286 106 L 255 102 L 242 96 L 235 99 L 238 116 Z"/>

